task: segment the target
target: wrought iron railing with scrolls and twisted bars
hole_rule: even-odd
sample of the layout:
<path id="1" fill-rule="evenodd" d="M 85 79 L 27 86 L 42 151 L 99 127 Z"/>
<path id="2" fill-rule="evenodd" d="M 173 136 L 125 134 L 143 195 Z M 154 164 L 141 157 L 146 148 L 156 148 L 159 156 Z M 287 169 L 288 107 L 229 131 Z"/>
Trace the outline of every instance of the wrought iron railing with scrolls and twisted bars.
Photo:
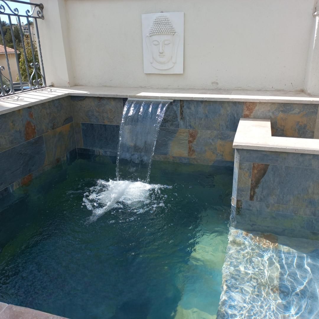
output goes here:
<path id="1" fill-rule="evenodd" d="M 45 87 L 37 21 L 43 4 L 0 0 L 0 18 L 0 97 Z"/>

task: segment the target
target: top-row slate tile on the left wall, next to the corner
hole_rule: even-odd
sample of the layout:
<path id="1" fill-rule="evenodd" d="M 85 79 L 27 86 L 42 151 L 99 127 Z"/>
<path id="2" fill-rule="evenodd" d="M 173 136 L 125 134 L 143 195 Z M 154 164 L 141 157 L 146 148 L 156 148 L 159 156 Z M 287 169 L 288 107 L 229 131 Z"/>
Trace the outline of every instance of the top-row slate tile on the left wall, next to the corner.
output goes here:
<path id="1" fill-rule="evenodd" d="M 70 96 L 34 105 L 32 111 L 38 135 L 73 121 Z"/>

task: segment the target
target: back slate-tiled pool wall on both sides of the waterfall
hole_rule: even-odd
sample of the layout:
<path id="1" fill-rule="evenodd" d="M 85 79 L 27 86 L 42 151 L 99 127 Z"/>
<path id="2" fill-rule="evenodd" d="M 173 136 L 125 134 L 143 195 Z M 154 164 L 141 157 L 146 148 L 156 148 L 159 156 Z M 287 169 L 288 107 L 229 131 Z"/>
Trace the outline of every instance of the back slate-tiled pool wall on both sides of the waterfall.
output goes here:
<path id="1" fill-rule="evenodd" d="M 71 101 L 78 153 L 115 154 L 126 99 L 73 96 Z M 232 166 L 240 118 L 271 118 L 276 136 L 313 138 L 317 112 L 316 104 L 174 100 L 162 120 L 154 159 Z"/>

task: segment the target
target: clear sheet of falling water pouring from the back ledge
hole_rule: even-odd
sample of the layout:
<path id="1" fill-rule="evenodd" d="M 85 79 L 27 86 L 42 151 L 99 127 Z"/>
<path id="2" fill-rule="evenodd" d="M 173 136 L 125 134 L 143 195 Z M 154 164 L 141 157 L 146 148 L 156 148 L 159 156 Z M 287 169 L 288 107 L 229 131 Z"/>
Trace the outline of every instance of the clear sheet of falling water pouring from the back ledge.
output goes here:
<path id="1" fill-rule="evenodd" d="M 116 178 L 149 182 L 159 126 L 169 100 L 125 103 L 116 160 Z"/>

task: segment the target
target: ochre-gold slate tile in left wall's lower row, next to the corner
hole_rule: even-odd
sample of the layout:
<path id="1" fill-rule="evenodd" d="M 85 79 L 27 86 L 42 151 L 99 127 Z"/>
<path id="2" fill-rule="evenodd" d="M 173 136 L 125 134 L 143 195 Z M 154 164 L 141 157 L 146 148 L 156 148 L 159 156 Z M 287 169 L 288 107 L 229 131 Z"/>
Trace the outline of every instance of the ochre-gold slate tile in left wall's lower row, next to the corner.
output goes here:
<path id="1" fill-rule="evenodd" d="M 73 123 L 44 134 L 48 163 L 54 163 L 76 148 Z"/>

